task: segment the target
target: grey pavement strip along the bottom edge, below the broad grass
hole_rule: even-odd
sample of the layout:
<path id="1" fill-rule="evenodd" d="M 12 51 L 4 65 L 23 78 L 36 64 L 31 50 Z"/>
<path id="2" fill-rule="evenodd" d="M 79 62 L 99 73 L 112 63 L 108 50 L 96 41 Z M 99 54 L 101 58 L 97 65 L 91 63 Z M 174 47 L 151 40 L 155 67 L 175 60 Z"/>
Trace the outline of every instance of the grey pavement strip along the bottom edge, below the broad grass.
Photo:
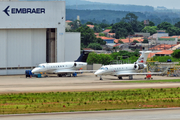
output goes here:
<path id="1" fill-rule="evenodd" d="M 180 109 L 120 110 L 104 112 L 57 113 L 0 116 L 1 120 L 180 120 Z"/>

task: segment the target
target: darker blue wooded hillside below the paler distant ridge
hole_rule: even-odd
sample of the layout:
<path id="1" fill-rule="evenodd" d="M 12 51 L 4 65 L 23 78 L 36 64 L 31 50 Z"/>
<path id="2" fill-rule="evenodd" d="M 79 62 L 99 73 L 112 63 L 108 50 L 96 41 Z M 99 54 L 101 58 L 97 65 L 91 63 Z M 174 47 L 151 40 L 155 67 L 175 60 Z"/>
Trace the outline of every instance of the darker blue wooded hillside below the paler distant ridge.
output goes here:
<path id="1" fill-rule="evenodd" d="M 66 9 L 66 20 L 75 20 L 77 15 L 80 16 L 82 23 L 91 21 L 94 23 L 116 23 L 120 19 L 130 13 L 129 11 L 113 11 L 113 10 L 75 10 L 75 9 Z M 180 14 L 177 13 L 162 13 L 162 12 L 131 12 L 138 16 L 139 21 L 151 20 L 156 25 L 161 22 L 170 22 L 175 24 L 180 21 Z"/>

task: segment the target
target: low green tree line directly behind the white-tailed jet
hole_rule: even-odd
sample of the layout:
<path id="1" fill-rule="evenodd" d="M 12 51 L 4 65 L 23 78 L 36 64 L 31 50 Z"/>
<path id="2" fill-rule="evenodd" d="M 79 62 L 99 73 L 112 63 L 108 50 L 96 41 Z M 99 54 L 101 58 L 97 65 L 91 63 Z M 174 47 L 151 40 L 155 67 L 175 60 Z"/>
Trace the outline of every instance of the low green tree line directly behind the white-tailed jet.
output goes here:
<path id="1" fill-rule="evenodd" d="M 88 55 L 87 63 L 108 65 L 113 60 L 119 60 L 122 63 L 134 63 L 137 61 L 139 56 L 139 50 L 135 50 L 135 52 L 119 51 L 111 54 L 97 54 L 92 52 Z M 167 62 L 168 59 L 171 59 L 172 62 L 179 62 L 180 50 L 175 50 L 171 56 L 154 56 L 153 58 L 149 59 L 149 61 Z"/>

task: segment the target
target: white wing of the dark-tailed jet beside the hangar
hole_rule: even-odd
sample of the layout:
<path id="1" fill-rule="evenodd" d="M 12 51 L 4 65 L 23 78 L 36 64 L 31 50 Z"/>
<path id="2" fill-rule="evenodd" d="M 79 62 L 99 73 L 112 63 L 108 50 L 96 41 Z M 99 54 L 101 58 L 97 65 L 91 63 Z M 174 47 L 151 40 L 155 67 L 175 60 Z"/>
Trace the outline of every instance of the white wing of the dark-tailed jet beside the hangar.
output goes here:
<path id="1" fill-rule="evenodd" d="M 71 70 L 71 69 L 65 69 L 65 70 L 56 70 L 54 73 L 60 74 L 60 73 L 82 73 L 82 72 L 94 72 L 96 70 Z"/>

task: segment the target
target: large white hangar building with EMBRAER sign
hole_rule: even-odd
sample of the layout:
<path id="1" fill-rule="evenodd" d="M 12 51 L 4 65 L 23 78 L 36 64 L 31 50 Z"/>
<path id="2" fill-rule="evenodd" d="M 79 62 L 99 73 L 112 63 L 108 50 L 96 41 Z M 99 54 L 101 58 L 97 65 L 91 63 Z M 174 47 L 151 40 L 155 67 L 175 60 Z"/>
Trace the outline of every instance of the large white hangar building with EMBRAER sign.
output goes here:
<path id="1" fill-rule="evenodd" d="M 65 32 L 65 2 L 0 2 L 0 75 L 74 61 L 80 33 Z"/>

